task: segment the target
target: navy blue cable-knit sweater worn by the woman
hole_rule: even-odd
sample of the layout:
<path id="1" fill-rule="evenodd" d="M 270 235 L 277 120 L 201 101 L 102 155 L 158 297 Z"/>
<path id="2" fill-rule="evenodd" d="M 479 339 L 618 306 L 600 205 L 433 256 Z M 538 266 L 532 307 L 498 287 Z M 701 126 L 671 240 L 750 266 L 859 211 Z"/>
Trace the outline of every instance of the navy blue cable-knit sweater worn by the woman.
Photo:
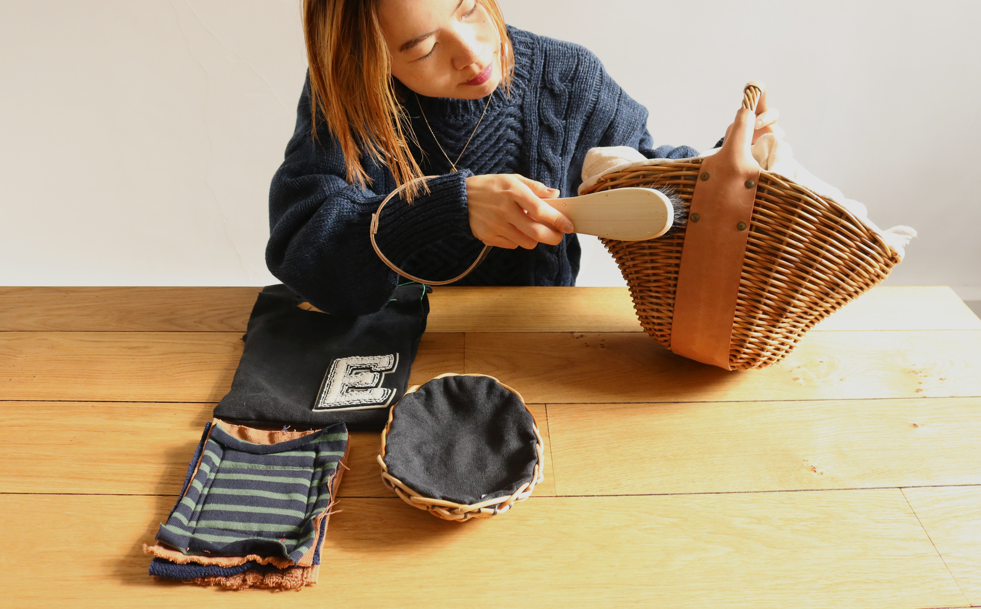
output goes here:
<path id="1" fill-rule="evenodd" d="M 456 158 L 484 111 L 487 98 L 444 99 L 405 91 L 405 108 L 418 137 L 412 154 L 431 192 L 411 205 L 385 207 L 376 240 L 389 260 L 424 279 L 459 275 L 483 243 L 470 231 L 465 179 L 521 174 L 573 196 L 583 160 L 595 146 L 632 146 L 649 158 L 687 158 L 688 146 L 652 147 L 647 111 L 630 98 L 587 49 L 508 27 L 515 70 L 510 94 L 492 93 L 484 122 L 457 173 L 439 151 L 422 110 L 451 158 Z M 316 307 L 361 315 L 381 309 L 401 279 L 372 249 L 371 216 L 395 188 L 387 168 L 365 163 L 367 189 L 344 180 L 343 156 L 327 127 L 311 137 L 309 81 L 296 111 L 296 129 L 270 190 L 269 270 Z M 533 250 L 500 249 L 457 285 L 573 285 L 579 273 L 575 234 Z"/>

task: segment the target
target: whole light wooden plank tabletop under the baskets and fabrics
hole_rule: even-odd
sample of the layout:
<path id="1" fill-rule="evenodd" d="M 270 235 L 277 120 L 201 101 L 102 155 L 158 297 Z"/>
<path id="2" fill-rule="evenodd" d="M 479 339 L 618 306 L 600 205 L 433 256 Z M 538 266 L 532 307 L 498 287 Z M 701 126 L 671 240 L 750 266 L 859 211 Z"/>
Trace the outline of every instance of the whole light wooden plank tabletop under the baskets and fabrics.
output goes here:
<path id="1" fill-rule="evenodd" d="M 445 523 L 351 471 L 319 584 L 151 582 L 150 541 L 228 390 L 257 288 L 0 288 L 4 607 L 981 605 L 981 320 L 881 287 L 771 369 L 647 337 L 621 288 L 437 288 L 412 382 L 521 391 L 545 482 Z"/>

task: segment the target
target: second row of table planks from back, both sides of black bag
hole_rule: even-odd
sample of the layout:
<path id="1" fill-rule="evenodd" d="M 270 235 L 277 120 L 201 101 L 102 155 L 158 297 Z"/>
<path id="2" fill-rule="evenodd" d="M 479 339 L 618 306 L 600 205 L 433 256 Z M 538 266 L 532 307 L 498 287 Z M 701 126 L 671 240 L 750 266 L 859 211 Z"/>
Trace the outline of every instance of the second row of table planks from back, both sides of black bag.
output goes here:
<path id="1" fill-rule="evenodd" d="M 228 332 L 0 332 L 0 395 L 217 402 L 241 349 Z M 411 381 L 487 374 L 531 403 L 953 397 L 981 395 L 979 359 L 981 330 L 814 332 L 784 362 L 740 373 L 640 332 L 434 333 Z"/>

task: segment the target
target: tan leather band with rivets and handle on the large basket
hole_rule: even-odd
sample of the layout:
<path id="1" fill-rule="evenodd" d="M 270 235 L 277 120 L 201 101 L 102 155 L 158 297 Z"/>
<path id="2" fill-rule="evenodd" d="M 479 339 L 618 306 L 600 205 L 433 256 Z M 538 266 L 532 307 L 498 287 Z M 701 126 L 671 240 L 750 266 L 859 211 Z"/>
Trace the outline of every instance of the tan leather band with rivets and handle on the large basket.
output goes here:
<path id="1" fill-rule="evenodd" d="M 749 82 L 722 149 L 701 162 L 678 271 L 671 350 L 726 370 L 760 172 L 750 144 L 765 107 L 763 84 Z"/>

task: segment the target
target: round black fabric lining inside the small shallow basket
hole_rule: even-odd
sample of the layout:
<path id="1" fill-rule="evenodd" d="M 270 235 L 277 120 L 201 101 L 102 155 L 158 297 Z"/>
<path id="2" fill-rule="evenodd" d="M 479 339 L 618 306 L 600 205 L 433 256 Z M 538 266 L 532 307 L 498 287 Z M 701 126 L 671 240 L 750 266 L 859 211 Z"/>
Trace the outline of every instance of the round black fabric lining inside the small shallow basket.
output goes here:
<path id="1" fill-rule="evenodd" d="M 491 377 L 442 377 L 392 409 L 385 464 L 422 496 L 472 505 L 532 482 L 536 441 L 521 396 Z"/>

